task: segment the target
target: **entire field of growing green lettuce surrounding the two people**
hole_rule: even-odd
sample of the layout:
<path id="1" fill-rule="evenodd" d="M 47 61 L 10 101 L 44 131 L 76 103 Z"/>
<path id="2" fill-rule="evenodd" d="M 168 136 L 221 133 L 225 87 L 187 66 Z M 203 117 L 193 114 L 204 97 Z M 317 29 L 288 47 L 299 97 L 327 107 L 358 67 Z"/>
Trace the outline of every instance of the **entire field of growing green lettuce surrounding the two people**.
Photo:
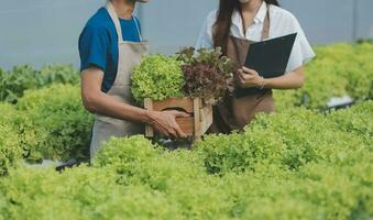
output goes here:
<path id="1" fill-rule="evenodd" d="M 59 66 L 44 75 L 48 82 L 34 84 L 15 80 L 15 73 L 40 70 L 1 70 L 0 220 L 372 219 L 372 45 L 317 52 L 306 86 L 276 91 L 279 111 L 260 116 L 243 133 L 172 152 L 142 136 L 112 139 L 91 166 L 63 173 L 24 158 L 85 154 L 92 118 L 70 77 L 77 73 Z M 318 113 L 342 95 L 358 105 Z"/>

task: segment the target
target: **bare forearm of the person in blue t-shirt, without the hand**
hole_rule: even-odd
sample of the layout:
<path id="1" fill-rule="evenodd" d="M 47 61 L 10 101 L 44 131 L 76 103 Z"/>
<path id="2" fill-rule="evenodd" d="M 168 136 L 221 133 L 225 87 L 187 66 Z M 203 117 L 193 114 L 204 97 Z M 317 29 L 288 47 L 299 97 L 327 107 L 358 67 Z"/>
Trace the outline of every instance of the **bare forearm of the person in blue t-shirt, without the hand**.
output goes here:
<path id="1" fill-rule="evenodd" d="M 103 92 L 96 94 L 88 102 L 87 109 L 102 116 L 138 123 L 150 123 L 151 120 L 149 110 L 123 103 Z"/>

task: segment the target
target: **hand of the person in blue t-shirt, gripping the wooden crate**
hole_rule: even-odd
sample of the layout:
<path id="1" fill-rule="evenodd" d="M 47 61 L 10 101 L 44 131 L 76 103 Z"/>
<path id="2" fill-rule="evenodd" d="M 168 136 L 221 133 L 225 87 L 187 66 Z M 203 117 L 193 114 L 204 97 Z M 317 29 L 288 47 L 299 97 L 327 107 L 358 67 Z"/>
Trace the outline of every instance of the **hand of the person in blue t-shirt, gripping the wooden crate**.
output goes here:
<path id="1" fill-rule="evenodd" d="M 182 131 L 176 123 L 176 118 L 187 118 L 189 114 L 182 111 L 151 111 L 149 124 L 153 127 L 161 135 L 182 138 L 187 135 Z"/>

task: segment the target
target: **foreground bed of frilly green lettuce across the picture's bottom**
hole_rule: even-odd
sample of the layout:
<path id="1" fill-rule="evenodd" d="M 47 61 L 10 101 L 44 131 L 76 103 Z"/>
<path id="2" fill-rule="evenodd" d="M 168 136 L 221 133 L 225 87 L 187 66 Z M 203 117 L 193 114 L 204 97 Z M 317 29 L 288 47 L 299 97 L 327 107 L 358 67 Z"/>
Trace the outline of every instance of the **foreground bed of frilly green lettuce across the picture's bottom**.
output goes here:
<path id="1" fill-rule="evenodd" d="M 0 179 L 3 219 L 370 219 L 373 102 L 322 116 L 261 116 L 194 151 L 112 139 L 62 174 L 19 165 Z"/>

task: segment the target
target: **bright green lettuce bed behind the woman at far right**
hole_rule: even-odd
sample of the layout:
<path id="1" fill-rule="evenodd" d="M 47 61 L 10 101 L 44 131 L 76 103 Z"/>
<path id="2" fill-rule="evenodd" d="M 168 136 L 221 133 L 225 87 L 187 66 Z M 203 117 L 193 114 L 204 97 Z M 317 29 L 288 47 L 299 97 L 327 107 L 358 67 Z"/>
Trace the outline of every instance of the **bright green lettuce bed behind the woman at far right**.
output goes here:
<path id="1" fill-rule="evenodd" d="M 355 102 L 373 99 L 373 44 L 333 44 L 316 47 L 306 66 L 301 89 L 275 90 L 278 110 L 289 107 L 323 109 L 332 97 L 350 96 Z"/>

